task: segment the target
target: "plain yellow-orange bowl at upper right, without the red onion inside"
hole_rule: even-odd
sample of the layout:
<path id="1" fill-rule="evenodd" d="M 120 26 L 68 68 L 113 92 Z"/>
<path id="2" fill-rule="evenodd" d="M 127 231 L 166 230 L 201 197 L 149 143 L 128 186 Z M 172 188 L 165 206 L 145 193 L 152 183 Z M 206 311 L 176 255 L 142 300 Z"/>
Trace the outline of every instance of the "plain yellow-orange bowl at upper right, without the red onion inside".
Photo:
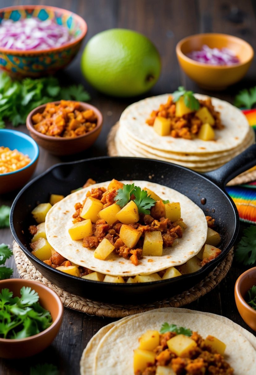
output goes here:
<path id="1" fill-rule="evenodd" d="M 240 63 L 229 66 L 215 66 L 199 63 L 187 57 L 191 51 L 198 51 L 206 44 L 210 48 L 229 48 L 235 52 Z M 245 40 L 227 34 L 196 34 L 182 39 L 176 46 L 179 65 L 184 72 L 203 89 L 224 90 L 241 80 L 253 59 L 253 48 Z"/>

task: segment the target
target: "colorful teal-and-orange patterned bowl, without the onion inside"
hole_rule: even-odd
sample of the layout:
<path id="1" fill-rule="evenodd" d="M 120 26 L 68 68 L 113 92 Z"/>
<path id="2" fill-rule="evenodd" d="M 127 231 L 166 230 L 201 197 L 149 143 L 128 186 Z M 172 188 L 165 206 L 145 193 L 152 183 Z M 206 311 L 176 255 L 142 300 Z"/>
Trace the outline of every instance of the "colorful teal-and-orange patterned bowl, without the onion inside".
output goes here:
<path id="1" fill-rule="evenodd" d="M 53 74 L 68 65 L 77 54 L 87 32 L 87 24 L 75 13 L 53 6 L 21 5 L 0 9 L 0 24 L 3 19 L 18 21 L 21 18 L 37 17 L 41 21 L 54 19 L 66 26 L 74 39 L 58 48 L 21 51 L 0 47 L 0 67 L 13 78 L 39 77 Z"/>

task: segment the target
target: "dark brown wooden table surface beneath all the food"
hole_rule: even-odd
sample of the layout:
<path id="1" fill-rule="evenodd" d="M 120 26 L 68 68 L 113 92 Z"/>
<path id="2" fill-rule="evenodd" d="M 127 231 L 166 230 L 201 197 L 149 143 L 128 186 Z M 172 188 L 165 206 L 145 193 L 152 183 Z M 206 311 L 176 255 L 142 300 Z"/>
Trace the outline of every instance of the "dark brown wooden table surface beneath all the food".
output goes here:
<path id="1" fill-rule="evenodd" d="M 0 7 L 30 3 L 30 0 L 1 0 Z M 42 5 L 44 1 L 34 0 L 33 3 Z M 242 37 L 256 50 L 256 5 L 253 0 L 51 0 L 50 3 L 53 6 L 72 10 L 86 20 L 88 33 L 83 46 L 93 35 L 109 28 L 130 28 L 145 34 L 159 49 L 162 72 L 157 84 L 144 96 L 135 99 L 110 98 L 97 93 L 84 81 L 80 72 L 82 47 L 69 67 L 57 76 L 63 84 L 70 82 L 84 84 L 92 96 L 91 103 L 102 111 L 104 117 L 102 132 L 89 150 L 75 156 L 60 158 L 48 154 L 41 148 L 35 175 L 62 161 L 106 155 L 106 138 L 111 126 L 119 119 L 126 106 L 138 99 L 173 92 L 182 84 L 194 92 L 208 93 L 232 103 L 239 89 L 256 85 L 255 58 L 241 82 L 223 92 L 213 93 L 200 89 L 180 71 L 175 54 L 175 46 L 180 39 L 203 32 L 227 33 Z M 12 128 L 8 124 L 7 127 Z M 18 130 L 27 133 L 25 125 L 19 126 Z M 1 196 L 0 205 L 11 205 L 16 193 Z M 2 242 L 12 244 L 9 229 L 0 229 L 0 243 Z M 7 266 L 14 269 L 14 277 L 19 277 L 13 258 L 8 260 Z M 253 332 L 238 314 L 233 296 L 235 281 L 244 270 L 245 267 L 234 261 L 231 270 L 220 285 L 187 307 L 223 315 Z M 26 360 L 0 360 L 0 374 L 27 375 L 30 366 L 45 362 L 56 365 L 60 374 L 79 374 L 79 361 L 87 342 L 102 326 L 111 321 L 113 319 L 92 317 L 66 308 L 62 328 L 53 344 L 41 354 Z"/>

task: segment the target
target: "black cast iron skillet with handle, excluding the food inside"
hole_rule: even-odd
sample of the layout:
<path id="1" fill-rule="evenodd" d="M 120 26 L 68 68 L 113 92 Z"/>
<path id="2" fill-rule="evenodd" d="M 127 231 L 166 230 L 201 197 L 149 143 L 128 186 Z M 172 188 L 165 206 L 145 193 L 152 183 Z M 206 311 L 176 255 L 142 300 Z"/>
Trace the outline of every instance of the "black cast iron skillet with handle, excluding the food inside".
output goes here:
<path id="1" fill-rule="evenodd" d="M 14 239 L 34 266 L 53 284 L 70 293 L 92 300 L 122 304 L 153 302 L 188 290 L 213 270 L 235 242 L 239 216 L 235 204 L 224 191 L 225 184 L 239 173 L 256 164 L 256 144 L 215 171 L 204 175 L 175 164 L 132 157 L 96 157 L 77 162 L 57 164 L 28 183 L 15 198 L 10 222 Z M 47 266 L 30 252 L 29 225 L 31 211 L 39 203 L 48 202 L 50 193 L 68 195 L 83 186 L 87 178 L 96 182 L 147 180 L 172 187 L 187 195 L 206 215 L 213 216 L 221 234 L 221 254 L 190 275 L 165 281 L 142 284 L 111 284 L 89 281 L 67 275 Z M 196 216 L 194 218 L 196 221 Z"/>

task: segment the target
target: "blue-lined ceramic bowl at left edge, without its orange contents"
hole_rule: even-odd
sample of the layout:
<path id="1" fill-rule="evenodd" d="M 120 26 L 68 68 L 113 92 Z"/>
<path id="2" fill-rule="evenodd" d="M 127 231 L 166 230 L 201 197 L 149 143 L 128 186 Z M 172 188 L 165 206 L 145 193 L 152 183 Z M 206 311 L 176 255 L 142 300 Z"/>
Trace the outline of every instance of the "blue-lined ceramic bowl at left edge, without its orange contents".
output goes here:
<path id="1" fill-rule="evenodd" d="M 15 172 L 0 173 L 0 194 L 16 190 L 26 184 L 35 171 L 38 162 L 39 148 L 36 142 L 18 130 L 0 129 L 0 146 L 17 149 L 28 155 L 31 162 Z"/>

